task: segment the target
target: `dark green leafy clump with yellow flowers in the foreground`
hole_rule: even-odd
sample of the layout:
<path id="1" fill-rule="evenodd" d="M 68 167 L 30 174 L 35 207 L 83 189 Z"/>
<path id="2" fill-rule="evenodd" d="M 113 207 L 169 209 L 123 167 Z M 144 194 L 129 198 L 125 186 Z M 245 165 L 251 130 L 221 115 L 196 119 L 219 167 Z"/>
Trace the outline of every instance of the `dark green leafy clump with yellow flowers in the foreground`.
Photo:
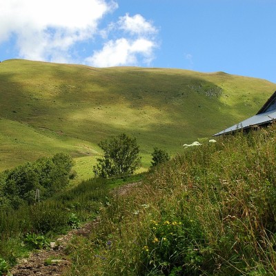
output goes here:
<path id="1" fill-rule="evenodd" d="M 198 275 L 210 258 L 200 226 L 185 221 L 151 221 L 151 233 L 144 246 L 146 275 Z M 210 264 L 209 264 L 210 265 Z M 177 268 L 177 269 L 176 269 Z"/>

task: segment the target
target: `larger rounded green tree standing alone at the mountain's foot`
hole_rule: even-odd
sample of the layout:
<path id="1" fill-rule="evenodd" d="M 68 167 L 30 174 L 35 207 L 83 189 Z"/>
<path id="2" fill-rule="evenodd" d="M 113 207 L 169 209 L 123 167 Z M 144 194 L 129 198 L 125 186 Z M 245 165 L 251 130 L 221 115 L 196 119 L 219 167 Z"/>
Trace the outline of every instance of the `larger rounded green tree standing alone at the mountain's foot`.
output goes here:
<path id="1" fill-rule="evenodd" d="M 101 177 L 117 177 L 132 175 L 141 166 L 139 145 L 135 137 L 120 134 L 112 139 L 99 143 L 103 150 L 103 158 L 98 158 L 93 167 L 95 175 Z"/>

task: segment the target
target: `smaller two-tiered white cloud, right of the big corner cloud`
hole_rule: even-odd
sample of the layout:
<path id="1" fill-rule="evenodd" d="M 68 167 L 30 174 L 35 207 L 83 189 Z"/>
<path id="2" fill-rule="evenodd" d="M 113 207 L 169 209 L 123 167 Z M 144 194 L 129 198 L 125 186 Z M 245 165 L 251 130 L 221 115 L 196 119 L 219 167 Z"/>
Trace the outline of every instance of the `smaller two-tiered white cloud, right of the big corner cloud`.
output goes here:
<path id="1" fill-rule="evenodd" d="M 86 59 L 90 66 L 136 66 L 138 58 L 143 63 L 150 64 L 154 58 L 153 50 L 157 48 L 155 34 L 157 29 L 146 21 L 140 14 L 130 17 L 128 14 L 119 17 L 117 23 L 108 26 L 108 32 L 116 29 L 130 33 L 130 37 L 121 37 L 104 43 L 101 50 L 97 50 Z"/>

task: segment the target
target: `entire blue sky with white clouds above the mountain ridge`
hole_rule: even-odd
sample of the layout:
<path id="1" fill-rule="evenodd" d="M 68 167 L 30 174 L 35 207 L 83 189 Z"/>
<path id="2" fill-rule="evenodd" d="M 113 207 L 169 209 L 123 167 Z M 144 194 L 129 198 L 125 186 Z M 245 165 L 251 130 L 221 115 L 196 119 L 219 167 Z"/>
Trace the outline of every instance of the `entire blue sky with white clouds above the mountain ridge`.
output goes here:
<path id="1" fill-rule="evenodd" d="M 0 60 L 224 71 L 276 83 L 276 0 L 0 0 Z"/>

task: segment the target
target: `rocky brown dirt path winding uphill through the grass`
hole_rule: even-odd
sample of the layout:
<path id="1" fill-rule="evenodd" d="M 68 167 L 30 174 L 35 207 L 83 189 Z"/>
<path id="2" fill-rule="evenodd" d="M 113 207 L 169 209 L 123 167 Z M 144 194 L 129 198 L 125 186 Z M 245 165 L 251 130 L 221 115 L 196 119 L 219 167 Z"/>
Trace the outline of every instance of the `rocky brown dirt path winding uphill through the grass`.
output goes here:
<path id="1" fill-rule="evenodd" d="M 137 183 L 127 184 L 112 191 L 113 195 L 125 196 L 128 191 L 136 187 Z M 71 230 L 61 236 L 56 242 L 51 243 L 51 248 L 37 250 L 28 257 L 21 259 L 17 266 L 10 271 L 12 276 L 59 276 L 66 267 L 70 266 L 70 259 L 65 249 L 74 235 L 88 236 L 99 221 L 90 221 L 79 229 Z"/>

